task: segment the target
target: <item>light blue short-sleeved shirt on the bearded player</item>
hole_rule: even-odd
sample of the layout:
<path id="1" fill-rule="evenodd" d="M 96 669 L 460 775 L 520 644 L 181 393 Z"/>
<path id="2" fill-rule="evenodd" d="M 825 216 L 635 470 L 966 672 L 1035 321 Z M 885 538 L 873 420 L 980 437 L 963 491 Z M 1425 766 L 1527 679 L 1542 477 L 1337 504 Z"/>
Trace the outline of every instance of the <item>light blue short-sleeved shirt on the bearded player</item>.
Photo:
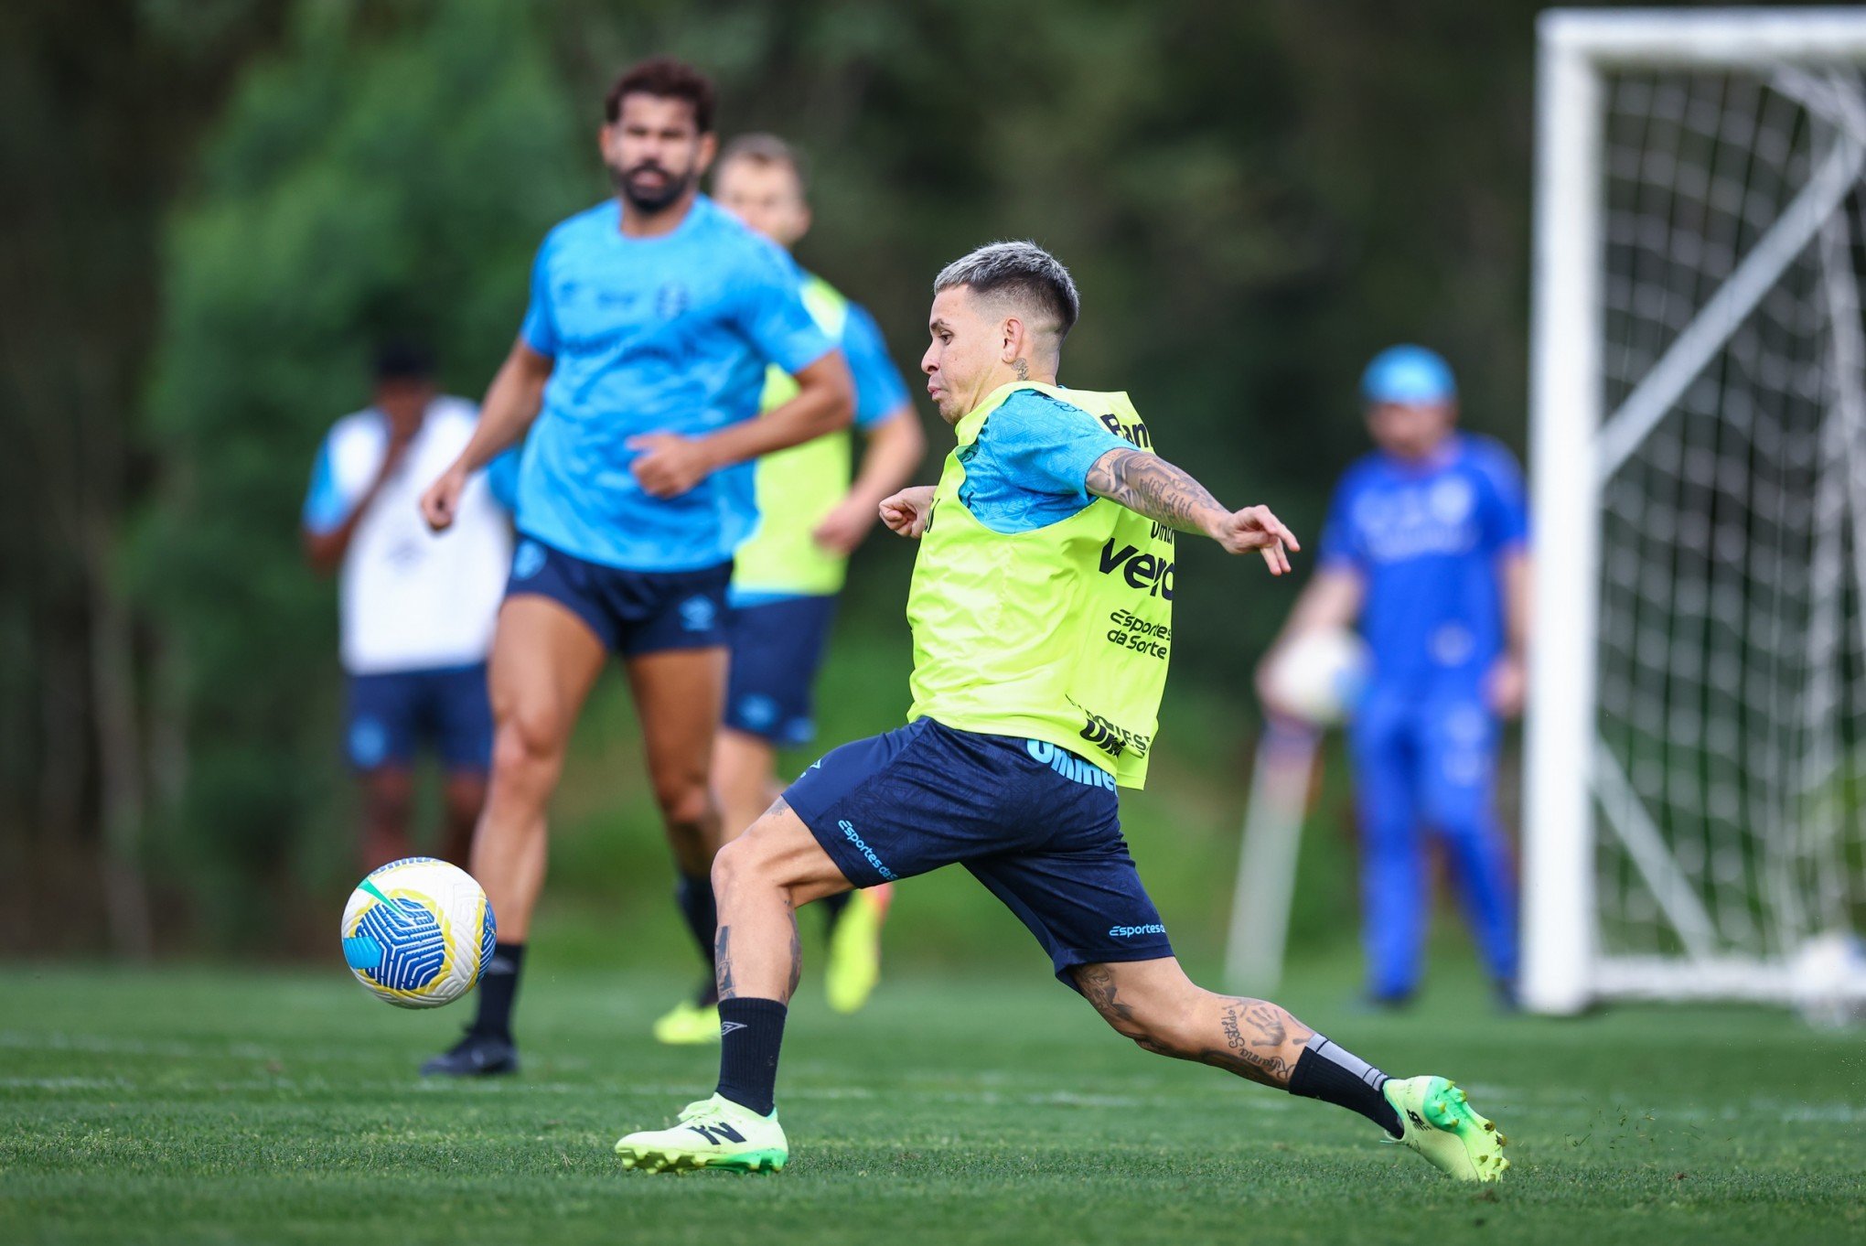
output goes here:
<path id="1" fill-rule="evenodd" d="M 552 229 L 521 338 L 554 369 L 519 472 L 519 530 L 627 571 L 724 563 L 758 520 L 750 463 L 655 498 L 629 472 L 629 438 L 750 420 L 767 364 L 797 373 L 834 349 L 791 259 L 705 196 L 664 237 L 625 237 L 614 200 Z"/>

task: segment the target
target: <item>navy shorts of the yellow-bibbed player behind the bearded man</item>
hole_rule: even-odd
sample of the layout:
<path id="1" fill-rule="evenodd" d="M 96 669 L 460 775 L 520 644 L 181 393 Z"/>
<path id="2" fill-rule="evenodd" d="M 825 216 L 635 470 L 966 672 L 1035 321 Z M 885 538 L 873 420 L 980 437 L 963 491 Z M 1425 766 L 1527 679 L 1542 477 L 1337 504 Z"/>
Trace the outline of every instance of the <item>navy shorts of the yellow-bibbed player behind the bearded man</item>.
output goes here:
<path id="1" fill-rule="evenodd" d="M 834 595 L 733 606 L 726 623 L 731 644 L 726 726 L 778 746 L 814 741 L 812 688 L 834 619 Z"/>

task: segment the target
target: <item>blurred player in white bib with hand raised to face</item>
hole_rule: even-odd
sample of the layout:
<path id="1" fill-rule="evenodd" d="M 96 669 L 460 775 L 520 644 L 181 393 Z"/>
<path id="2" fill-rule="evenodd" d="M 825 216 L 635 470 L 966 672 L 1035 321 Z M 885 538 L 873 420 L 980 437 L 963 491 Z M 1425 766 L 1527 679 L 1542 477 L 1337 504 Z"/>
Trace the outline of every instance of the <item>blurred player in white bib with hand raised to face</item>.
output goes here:
<path id="1" fill-rule="evenodd" d="M 485 804 L 485 653 L 511 561 L 509 498 L 494 498 L 487 474 L 472 476 L 446 535 L 429 532 L 416 505 L 478 418 L 466 399 L 435 394 L 425 351 L 384 347 L 369 407 L 325 436 L 304 498 L 306 558 L 321 573 L 341 569 L 345 748 L 362 776 L 369 869 L 414 851 L 412 767 L 424 742 L 446 770 L 439 856 L 466 864 Z"/>

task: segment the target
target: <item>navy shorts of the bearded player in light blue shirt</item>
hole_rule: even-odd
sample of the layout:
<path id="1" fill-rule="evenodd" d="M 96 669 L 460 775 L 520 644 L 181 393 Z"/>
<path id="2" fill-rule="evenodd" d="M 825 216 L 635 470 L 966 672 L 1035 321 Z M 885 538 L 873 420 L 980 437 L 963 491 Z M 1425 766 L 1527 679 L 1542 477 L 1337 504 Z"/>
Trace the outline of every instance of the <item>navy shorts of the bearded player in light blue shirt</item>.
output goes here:
<path id="1" fill-rule="evenodd" d="M 700 571 L 623 571 L 521 537 L 506 597 L 549 597 L 582 619 L 610 653 L 633 658 L 662 649 L 724 645 L 730 582 L 731 563 Z"/>

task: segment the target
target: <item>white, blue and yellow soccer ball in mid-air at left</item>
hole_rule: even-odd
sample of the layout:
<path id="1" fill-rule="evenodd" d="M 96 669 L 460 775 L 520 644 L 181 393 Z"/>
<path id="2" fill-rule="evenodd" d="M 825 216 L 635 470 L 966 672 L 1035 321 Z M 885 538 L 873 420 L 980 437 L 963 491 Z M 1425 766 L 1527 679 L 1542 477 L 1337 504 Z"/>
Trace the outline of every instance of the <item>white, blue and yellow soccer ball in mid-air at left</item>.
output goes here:
<path id="1" fill-rule="evenodd" d="M 343 905 L 343 961 L 397 1007 L 440 1007 L 493 959 L 493 905 L 465 869 L 409 856 L 371 869 Z"/>

